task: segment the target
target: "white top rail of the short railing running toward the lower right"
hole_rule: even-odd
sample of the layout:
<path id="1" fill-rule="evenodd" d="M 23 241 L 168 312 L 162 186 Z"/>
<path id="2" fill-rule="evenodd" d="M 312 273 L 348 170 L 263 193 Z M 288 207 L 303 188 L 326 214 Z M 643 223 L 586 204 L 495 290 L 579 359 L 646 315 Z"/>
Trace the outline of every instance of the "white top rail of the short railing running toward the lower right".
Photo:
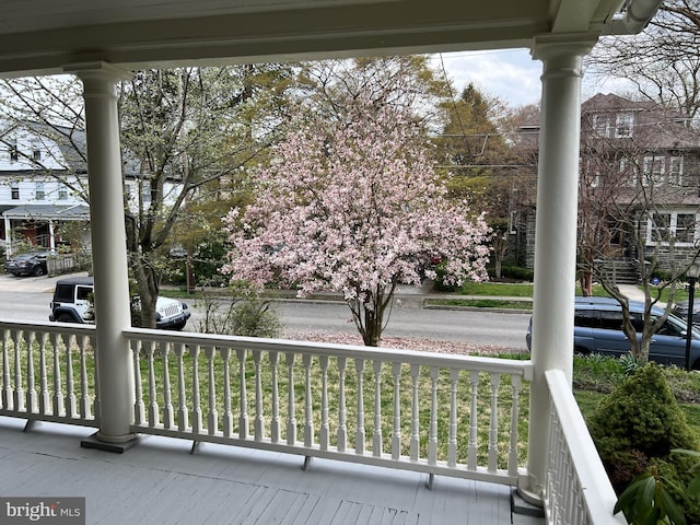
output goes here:
<path id="1" fill-rule="evenodd" d="M 583 488 L 583 499 L 591 515 L 591 523 L 627 524 L 621 514 L 612 515 L 617 501 L 615 490 L 564 373 L 561 370 L 548 370 L 545 376 L 572 464 Z"/>

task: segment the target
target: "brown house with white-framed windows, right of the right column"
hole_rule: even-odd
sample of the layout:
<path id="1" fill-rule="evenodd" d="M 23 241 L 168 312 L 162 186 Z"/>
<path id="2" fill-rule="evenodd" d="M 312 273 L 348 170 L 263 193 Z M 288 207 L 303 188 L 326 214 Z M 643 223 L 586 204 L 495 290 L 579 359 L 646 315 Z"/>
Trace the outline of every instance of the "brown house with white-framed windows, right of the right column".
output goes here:
<path id="1" fill-rule="evenodd" d="M 526 122 L 525 147 L 536 151 L 539 124 Z M 579 249 L 615 261 L 658 257 L 682 260 L 700 241 L 700 133 L 673 108 L 615 94 L 596 94 L 581 107 Z M 535 210 L 518 218 L 522 261 L 533 267 Z M 591 232 L 591 238 L 581 237 Z M 673 244 L 673 257 L 669 246 Z"/>

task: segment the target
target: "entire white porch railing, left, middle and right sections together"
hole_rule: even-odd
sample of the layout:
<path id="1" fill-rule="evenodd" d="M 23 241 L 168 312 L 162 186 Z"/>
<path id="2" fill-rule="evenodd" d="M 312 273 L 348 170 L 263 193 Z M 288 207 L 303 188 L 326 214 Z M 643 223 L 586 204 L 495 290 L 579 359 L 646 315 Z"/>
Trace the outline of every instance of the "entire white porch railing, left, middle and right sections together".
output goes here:
<path id="1" fill-rule="evenodd" d="M 0 415 L 98 427 L 93 326 L 0 323 Z M 515 486 L 530 361 L 162 330 L 133 351 L 132 431 Z M 548 371 L 552 524 L 621 524 L 567 384 Z"/>

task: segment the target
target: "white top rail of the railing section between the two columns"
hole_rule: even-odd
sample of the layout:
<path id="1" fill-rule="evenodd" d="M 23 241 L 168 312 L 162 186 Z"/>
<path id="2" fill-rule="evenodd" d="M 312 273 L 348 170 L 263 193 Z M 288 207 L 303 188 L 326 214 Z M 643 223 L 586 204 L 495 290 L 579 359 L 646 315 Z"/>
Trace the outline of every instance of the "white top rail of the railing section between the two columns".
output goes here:
<path id="1" fill-rule="evenodd" d="M 387 362 L 410 362 L 428 366 L 480 370 L 485 372 L 522 375 L 532 380 L 533 363 L 530 360 L 513 360 L 485 358 L 476 355 L 455 355 L 435 352 L 421 352 L 390 348 L 374 348 L 355 345 L 336 345 L 327 342 L 293 341 L 282 339 L 265 339 L 257 337 L 222 336 L 214 334 L 192 334 L 131 328 L 125 331 L 128 339 L 142 341 L 172 342 L 175 345 L 198 345 L 200 347 L 230 348 L 232 350 L 261 350 L 292 352 L 350 359 L 381 360 Z"/>

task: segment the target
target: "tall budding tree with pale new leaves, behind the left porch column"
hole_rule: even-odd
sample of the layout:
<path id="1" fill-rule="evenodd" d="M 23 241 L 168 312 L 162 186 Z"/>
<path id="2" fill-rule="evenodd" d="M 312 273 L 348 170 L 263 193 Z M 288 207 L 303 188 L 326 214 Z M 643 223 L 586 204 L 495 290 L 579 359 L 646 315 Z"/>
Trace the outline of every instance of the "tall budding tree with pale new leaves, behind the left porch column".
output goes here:
<path id="1" fill-rule="evenodd" d="M 125 182 L 127 248 L 142 326 L 155 326 L 162 260 L 175 225 L 191 224 L 186 215 L 192 200 L 220 197 L 270 144 L 270 133 L 284 121 L 280 112 L 290 78 L 289 67 L 241 66 L 137 71 L 121 84 L 122 166 L 126 178 L 136 182 L 135 191 Z M 66 78 L 58 85 L 45 79 L 7 81 L 12 105 L 4 106 L 5 117 L 18 125 L 42 121 L 51 133 L 65 133 L 57 122 L 71 132 L 84 130 L 80 82 Z M 85 155 L 84 144 L 77 147 Z M 78 189 L 89 201 L 86 188 Z"/>

